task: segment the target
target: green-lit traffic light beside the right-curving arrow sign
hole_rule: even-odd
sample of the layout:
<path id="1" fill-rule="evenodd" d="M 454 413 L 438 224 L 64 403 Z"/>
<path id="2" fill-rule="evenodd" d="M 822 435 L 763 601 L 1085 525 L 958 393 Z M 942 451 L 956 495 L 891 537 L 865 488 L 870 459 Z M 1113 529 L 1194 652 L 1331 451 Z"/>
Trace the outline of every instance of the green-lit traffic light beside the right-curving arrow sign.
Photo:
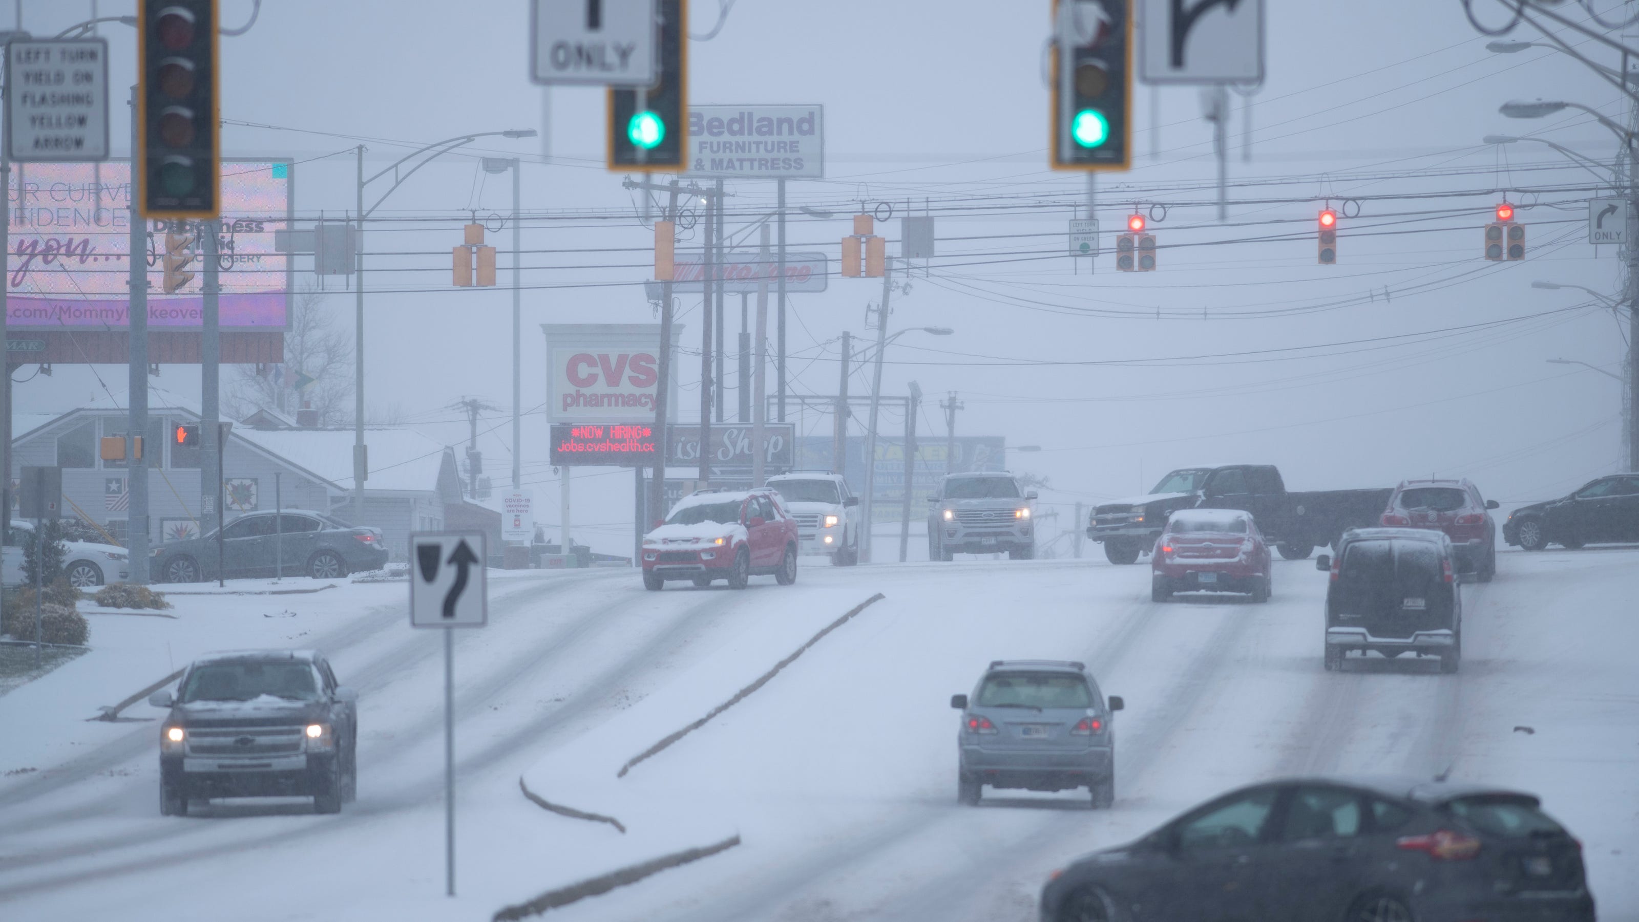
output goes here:
<path id="1" fill-rule="evenodd" d="M 1133 162 L 1133 0 L 1054 0 L 1056 170 L 1124 170 Z"/>

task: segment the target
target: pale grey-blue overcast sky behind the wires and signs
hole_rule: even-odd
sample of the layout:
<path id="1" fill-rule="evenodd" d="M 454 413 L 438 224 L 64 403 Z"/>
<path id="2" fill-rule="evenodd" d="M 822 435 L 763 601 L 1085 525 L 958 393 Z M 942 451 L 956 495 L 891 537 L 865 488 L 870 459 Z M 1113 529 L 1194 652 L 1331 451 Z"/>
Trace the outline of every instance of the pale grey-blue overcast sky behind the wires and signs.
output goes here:
<path id="1" fill-rule="evenodd" d="M 1134 169 L 1098 179 L 1106 255 L 1095 273 L 1087 260 L 1051 259 L 1065 249 L 1065 221 L 1082 216 L 1072 205 L 1083 201 L 1085 179 L 1046 169 L 1046 0 L 739 0 L 713 41 L 692 43 L 690 97 L 824 105 L 826 179 L 793 182 L 790 198 L 793 208 L 838 216 L 793 221 L 793 246 L 834 259 L 856 203 L 903 211 L 906 201 L 926 201 L 939 215 L 941 259 L 895 296 L 890 329 L 938 324 L 956 336 L 906 334 L 888 354 L 883 391 L 901 395 L 913 378 L 929 396 L 956 390 L 965 401 L 959 432 L 1041 445 L 1010 463 L 1047 477 L 1059 491 L 1044 499 L 1064 503 L 1065 513 L 1077 499 L 1136 493 L 1167 468 L 1200 462 L 1278 463 L 1293 488 L 1470 475 L 1505 501 L 1559 495 L 1613 470 L 1621 457 L 1618 383 L 1547 364 L 1565 357 L 1619 373 L 1613 316 L 1585 306 L 1590 298 L 1577 292 L 1529 285 L 1547 278 L 1618 290 L 1614 247 L 1595 254 L 1582 229 L 1580 200 L 1596 180 L 1546 146 L 1500 151 L 1480 138 L 1536 131 L 1609 162 L 1613 138 L 1582 113 L 1524 123 L 1496 106 L 1562 98 L 1626 120 L 1619 95 L 1554 51 L 1488 52 L 1457 0 L 1267 5 L 1267 80 L 1251 97 L 1251 162 L 1242 156 L 1244 100 L 1233 97 L 1229 221 L 1216 219 L 1211 129 L 1198 92 L 1165 88 L 1157 105 L 1155 90 L 1141 88 Z M 692 29 L 710 29 L 716 5 L 692 7 Z M 1490 0 L 1475 7 L 1487 23 L 1505 20 Z M 102 0 L 97 10 L 120 15 L 131 5 Z M 251 2 L 223 0 L 221 10 L 225 23 L 238 25 Z M 54 34 L 90 13 L 89 0 L 25 0 L 21 26 Z M 524 249 L 611 252 L 526 257 L 523 403 L 533 409 L 544 400 L 538 324 L 654 314 L 633 285 L 646 275 L 641 247 L 651 236 L 621 174 L 603 169 L 603 93 L 557 88 L 547 105 L 528 80 L 526 23 L 523 0 L 269 0 L 247 34 L 221 41 L 221 115 L 277 126 L 229 124 L 225 152 L 302 160 L 297 211 L 308 218 L 354 206 L 352 147 L 361 139 L 374 172 L 408 151 L 395 142 L 544 129 L 538 139 L 475 146 L 524 160 Z M 103 34 L 123 87 L 134 74 L 134 33 L 115 25 Z M 1511 38 L 1539 36 L 1523 26 Z M 1587 38 L 1567 33 L 1567 41 L 1619 66 Z M 118 106 L 115 136 L 128 131 Z M 123 156 L 125 144 L 115 146 Z M 374 201 L 380 183 L 370 188 Z M 731 182 L 729 192 L 733 233 L 769 208 L 774 190 Z M 1529 257 L 1487 264 L 1482 226 L 1505 197 L 1521 206 Z M 1355 200 L 1359 215 L 1351 203 L 1337 265 L 1316 265 L 1314 215 L 1344 200 Z M 1165 210 L 1152 224 L 1164 246 L 1154 273 L 1116 273 L 1108 255 L 1111 228 L 1134 203 L 1146 213 Z M 369 295 L 365 308 L 370 414 L 416 423 L 449 442 L 464 439 L 465 426 L 441 423 L 454 419 L 443 406 L 465 395 L 510 406 L 511 393 L 510 293 L 446 288 L 436 255 L 459 242 L 469 210 L 505 215 L 508 177 L 487 177 L 467 154 L 421 170 L 377 215 L 436 218 L 393 234 L 395 249 L 428 255 L 372 260 L 367 275 L 367 290 L 385 292 Z M 590 210 L 602 210 L 597 219 L 564 219 Z M 897 252 L 897 223 L 885 233 Z M 1277 236 L 1292 239 L 1254 239 Z M 574 269 L 577 260 L 603 269 Z M 844 329 L 865 334 L 865 305 L 879 298 L 880 282 L 851 278 L 831 280 L 823 295 L 792 296 L 793 390 L 834 393 L 834 339 Z M 726 303 L 734 334 L 738 296 Z M 1585 308 L 1549 313 L 1577 306 Z M 329 298 L 326 310 L 351 329 L 351 293 Z M 1542 316 L 1491 324 L 1529 314 Z M 698 336 L 698 296 L 683 296 L 680 321 Z M 1449 332 L 1421 336 L 1431 331 Z M 1259 352 L 1314 346 L 1324 347 Z M 1177 360 L 1019 364 L 1147 359 Z M 697 368 L 685 357 L 685 419 L 698 405 Z M 95 370 L 123 400 L 125 372 Z M 197 393 L 197 370 L 167 365 L 157 383 Z M 854 378 L 856 393 L 867 386 L 864 373 Z M 89 368 L 59 365 L 51 378 L 18 385 L 16 409 L 67 409 L 98 393 Z M 828 419 L 803 424 L 829 432 Z M 929 424 L 942 432 L 936 409 L 924 431 Z M 885 427 L 901 426 L 885 418 Z M 543 481 L 538 498 L 552 506 L 539 414 L 528 431 L 524 478 Z M 485 437 L 497 483 L 510 463 L 508 432 L 502 426 Z M 582 483 L 577 517 L 598 526 L 587 537 L 603 550 L 629 549 L 621 526 L 631 519 L 629 475 Z"/>

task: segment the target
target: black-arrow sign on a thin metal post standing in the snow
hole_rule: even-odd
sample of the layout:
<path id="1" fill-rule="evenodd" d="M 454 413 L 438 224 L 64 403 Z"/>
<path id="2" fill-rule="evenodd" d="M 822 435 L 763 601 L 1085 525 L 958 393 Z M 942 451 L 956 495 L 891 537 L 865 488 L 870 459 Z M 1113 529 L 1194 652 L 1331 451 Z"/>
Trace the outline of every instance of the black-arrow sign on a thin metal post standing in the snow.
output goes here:
<path id="1" fill-rule="evenodd" d="M 444 630 L 444 896 L 456 896 L 456 627 L 484 627 L 484 532 L 410 536 L 410 627 Z"/>

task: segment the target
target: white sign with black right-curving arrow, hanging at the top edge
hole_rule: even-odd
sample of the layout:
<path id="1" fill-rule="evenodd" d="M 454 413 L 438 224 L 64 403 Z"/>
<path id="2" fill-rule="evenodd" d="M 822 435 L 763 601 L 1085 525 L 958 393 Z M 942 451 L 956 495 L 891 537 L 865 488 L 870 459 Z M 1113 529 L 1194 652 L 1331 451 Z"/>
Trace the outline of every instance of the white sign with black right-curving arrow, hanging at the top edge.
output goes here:
<path id="1" fill-rule="evenodd" d="M 1147 84 L 1260 84 L 1264 0 L 1139 0 Z"/>

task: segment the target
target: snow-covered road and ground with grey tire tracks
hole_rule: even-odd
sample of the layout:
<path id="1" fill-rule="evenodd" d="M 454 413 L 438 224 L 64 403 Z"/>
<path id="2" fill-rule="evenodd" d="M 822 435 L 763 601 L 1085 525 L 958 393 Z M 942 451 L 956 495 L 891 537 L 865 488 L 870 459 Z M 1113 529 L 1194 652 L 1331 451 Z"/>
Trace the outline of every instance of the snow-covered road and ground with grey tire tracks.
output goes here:
<path id="1" fill-rule="evenodd" d="M 746 593 L 644 593 L 631 572 L 506 575 L 490 627 L 457 642 L 456 899 L 443 896 L 443 663 L 438 637 L 405 624 L 403 583 L 93 616 L 97 650 L 0 696 L 0 904 L 31 922 L 215 919 L 226 904 L 244 920 L 488 919 L 649 856 L 529 804 L 520 775 L 670 725 L 701 676 L 756 676 L 880 591 L 621 781 L 633 804 L 687 799 L 674 822 L 710 817 L 705 838 L 726 824 L 742 845 L 552 915 L 1023 922 L 1064 860 L 1228 786 L 1451 766 L 1542 794 L 1585 843 L 1600 917 L 1639 919 L 1639 549 L 1505 554 L 1495 583 L 1464 588 L 1454 676 L 1405 658 L 1323 671 L 1324 585 L 1311 562 L 1277 562 L 1267 606 L 1152 604 L 1146 567 L 1101 560 L 808 567 L 797 586 L 759 578 Z M 159 817 L 156 724 L 85 722 L 169 663 L 229 645 L 320 647 L 359 688 L 361 794 L 339 817 L 298 801 Z M 1126 698 L 1113 811 L 1069 793 L 956 804 L 947 699 L 1005 657 L 1087 660 Z"/>

